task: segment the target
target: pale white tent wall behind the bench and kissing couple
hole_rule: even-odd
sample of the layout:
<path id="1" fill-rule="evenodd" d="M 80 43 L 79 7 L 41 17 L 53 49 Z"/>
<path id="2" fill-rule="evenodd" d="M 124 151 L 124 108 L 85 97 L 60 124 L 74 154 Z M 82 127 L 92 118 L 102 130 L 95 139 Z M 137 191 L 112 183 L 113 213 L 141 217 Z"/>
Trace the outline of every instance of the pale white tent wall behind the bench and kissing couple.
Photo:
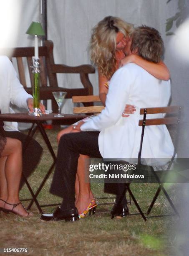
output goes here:
<path id="1" fill-rule="evenodd" d="M 107 15 L 118 16 L 135 26 L 145 24 L 160 31 L 166 49 L 164 61 L 171 72 L 172 102 L 188 102 L 189 62 L 174 57 L 174 51 L 169 47 L 169 41 L 174 36 L 166 36 L 165 33 L 166 19 L 177 12 L 177 3 L 176 0 L 168 4 L 162 0 L 47 0 L 48 39 L 54 43 L 55 63 L 70 66 L 91 64 L 88 54 L 91 29 Z M 13 30 L 17 34 L 8 39 L 6 46 L 33 46 L 33 38 L 25 31 L 31 21 L 42 20 L 41 0 L 6 0 L 1 1 L 0 7 L 3 19 L 1 32 L 5 21 L 10 25 L 13 18 Z M 3 13 L 6 15 L 3 16 Z M 173 27 L 173 31 L 175 29 Z M 98 94 L 97 72 L 89 77 L 93 93 Z M 60 74 L 58 81 L 60 87 L 82 86 L 76 74 Z M 188 104 L 185 109 L 187 113 Z M 62 111 L 72 113 L 70 101 L 66 102 Z"/>

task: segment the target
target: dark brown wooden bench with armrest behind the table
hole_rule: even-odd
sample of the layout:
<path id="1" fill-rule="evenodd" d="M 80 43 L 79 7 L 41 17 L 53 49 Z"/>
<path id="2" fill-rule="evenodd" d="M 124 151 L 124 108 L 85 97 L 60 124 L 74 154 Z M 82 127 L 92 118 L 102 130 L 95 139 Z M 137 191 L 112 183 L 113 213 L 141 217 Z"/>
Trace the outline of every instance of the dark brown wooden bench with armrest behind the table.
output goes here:
<path id="1" fill-rule="evenodd" d="M 34 56 L 34 47 L 18 47 L 14 48 L 11 60 L 16 58 L 18 66 L 18 74 L 21 84 L 25 90 L 32 95 L 32 57 Z M 27 59 L 27 66 L 25 67 L 23 59 Z M 80 65 L 77 67 L 69 67 L 63 64 L 55 64 L 53 57 L 53 42 L 45 41 L 44 46 L 39 47 L 39 62 L 40 62 L 40 100 L 52 100 L 53 112 L 58 111 L 57 104 L 52 95 L 53 91 L 66 91 L 66 98 L 79 95 L 93 95 L 93 86 L 89 80 L 88 74 L 95 73 L 95 69 L 91 65 Z M 28 68 L 30 77 L 30 87 L 26 79 L 26 69 Z M 83 88 L 63 88 L 58 87 L 57 74 L 58 73 L 72 73 L 79 74 Z M 69 122 L 67 123 L 69 124 Z"/>

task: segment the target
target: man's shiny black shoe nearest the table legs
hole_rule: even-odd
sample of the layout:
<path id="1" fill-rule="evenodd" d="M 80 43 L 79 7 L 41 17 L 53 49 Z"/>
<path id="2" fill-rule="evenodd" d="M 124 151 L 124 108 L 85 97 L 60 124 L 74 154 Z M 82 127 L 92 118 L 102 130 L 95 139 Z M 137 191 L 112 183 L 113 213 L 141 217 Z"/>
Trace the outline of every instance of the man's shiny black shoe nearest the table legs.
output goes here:
<path id="1" fill-rule="evenodd" d="M 71 210 L 61 210 L 60 206 L 55 209 L 53 213 L 46 213 L 41 215 L 41 220 L 65 220 L 65 221 L 76 221 L 79 220 L 77 208 Z"/>

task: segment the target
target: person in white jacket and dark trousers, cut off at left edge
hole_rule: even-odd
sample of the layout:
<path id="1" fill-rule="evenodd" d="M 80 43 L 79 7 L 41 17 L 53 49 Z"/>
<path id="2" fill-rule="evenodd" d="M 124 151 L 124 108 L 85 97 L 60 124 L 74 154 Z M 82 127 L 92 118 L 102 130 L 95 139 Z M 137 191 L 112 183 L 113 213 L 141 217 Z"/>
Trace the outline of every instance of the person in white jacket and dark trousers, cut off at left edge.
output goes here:
<path id="1" fill-rule="evenodd" d="M 10 104 L 16 105 L 20 108 L 25 108 L 33 111 L 33 97 L 28 94 L 22 84 L 20 84 L 13 64 L 7 56 L 0 56 L 0 111 L 1 113 L 14 113 Z M 45 107 L 40 105 L 44 112 Z M 27 136 L 18 131 L 18 123 L 4 122 L 4 135 L 10 138 L 17 138 L 24 145 Z M 28 177 L 35 169 L 42 154 L 42 147 L 40 144 L 32 139 L 23 154 L 23 173 Z M 0 161 L 0 168 L 4 168 L 5 161 Z M 22 177 L 20 188 L 24 184 Z"/>

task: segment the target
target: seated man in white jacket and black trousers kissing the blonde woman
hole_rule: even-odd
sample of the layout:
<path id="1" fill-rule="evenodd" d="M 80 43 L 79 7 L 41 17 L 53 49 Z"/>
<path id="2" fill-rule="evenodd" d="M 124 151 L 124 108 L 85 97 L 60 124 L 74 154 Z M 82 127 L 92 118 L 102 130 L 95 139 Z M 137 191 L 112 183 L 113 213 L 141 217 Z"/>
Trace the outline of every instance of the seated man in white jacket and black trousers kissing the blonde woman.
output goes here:
<path id="1" fill-rule="evenodd" d="M 146 26 L 136 28 L 131 38 L 132 53 L 152 62 L 160 61 L 164 47 L 156 29 Z M 118 69 L 111 79 L 106 107 L 101 114 L 79 123 L 76 129 L 81 130 L 80 133 L 69 133 L 60 138 L 50 192 L 63 197 L 63 202 L 53 214 L 43 214 L 41 218 L 77 220 L 74 184 L 79 154 L 95 158 L 137 158 L 141 136 L 141 126 L 138 125 L 140 108 L 167 106 L 169 97 L 170 81 L 156 79 L 134 63 Z M 136 106 L 136 113 L 128 118 L 122 116 L 125 102 Z M 172 156 L 174 146 L 166 125 L 148 126 L 145 133 L 141 158 Z M 118 184 L 118 187 L 117 202 L 123 184 Z"/>

